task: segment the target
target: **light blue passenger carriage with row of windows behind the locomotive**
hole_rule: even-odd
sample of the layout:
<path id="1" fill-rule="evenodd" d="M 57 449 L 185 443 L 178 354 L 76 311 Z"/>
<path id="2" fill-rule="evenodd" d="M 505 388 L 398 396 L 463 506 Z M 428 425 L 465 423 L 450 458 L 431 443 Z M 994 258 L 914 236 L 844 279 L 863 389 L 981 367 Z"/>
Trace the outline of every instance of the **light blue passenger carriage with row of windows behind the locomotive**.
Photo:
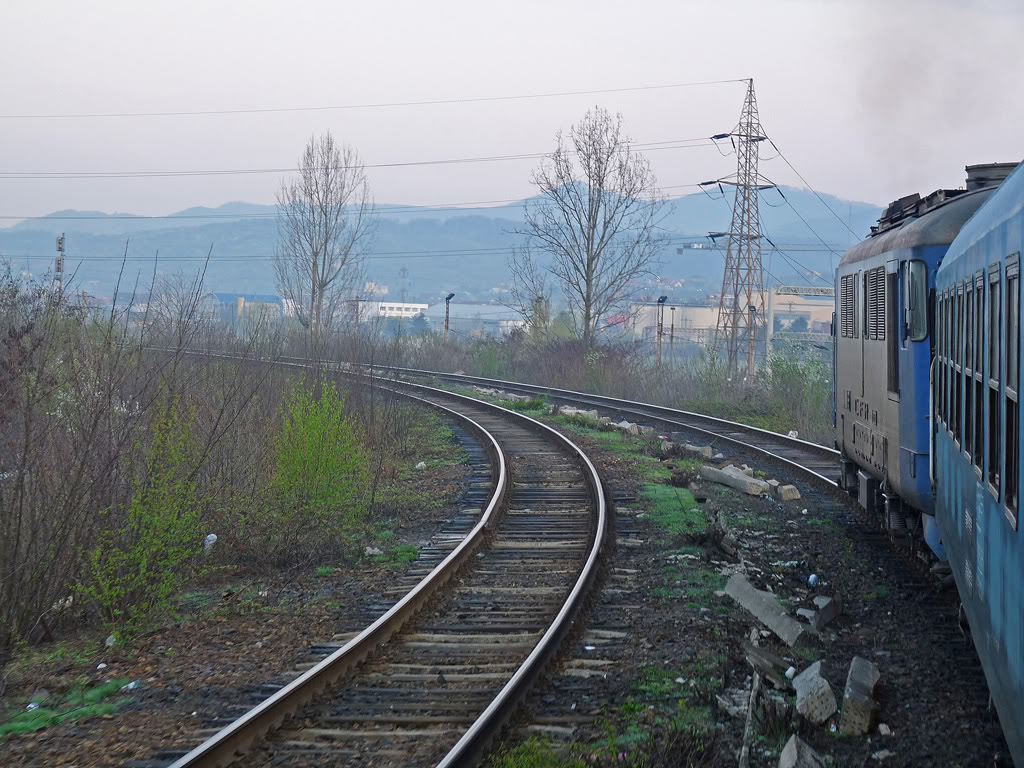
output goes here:
<path id="1" fill-rule="evenodd" d="M 935 517 L 1007 742 L 1024 765 L 1021 251 L 1024 164 L 935 279 Z"/>

